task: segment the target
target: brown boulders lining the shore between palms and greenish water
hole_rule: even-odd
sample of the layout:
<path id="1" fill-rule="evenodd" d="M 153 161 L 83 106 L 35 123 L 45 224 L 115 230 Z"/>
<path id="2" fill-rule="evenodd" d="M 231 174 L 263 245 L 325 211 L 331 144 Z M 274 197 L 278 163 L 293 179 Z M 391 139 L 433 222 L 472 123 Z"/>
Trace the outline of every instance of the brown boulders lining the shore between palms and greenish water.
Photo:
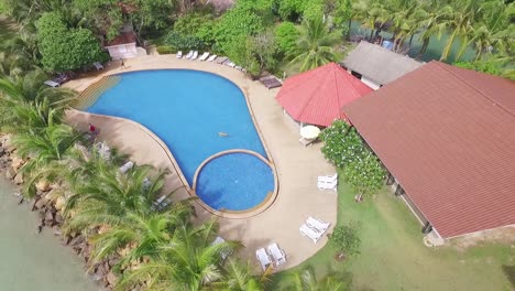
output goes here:
<path id="1" fill-rule="evenodd" d="M 23 166 L 24 161 L 17 155 L 17 149 L 12 146 L 9 136 L 0 136 L 0 174 L 4 175 L 8 180 L 17 185 L 18 190 L 23 184 L 23 173 L 20 169 Z M 100 287 L 106 290 L 111 290 L 118 277 L 114 274 L 112 267 L 119 262 L 119 258 L 109 258 L 100 263 L 90 266 L 89 259 L 91 254 L 91 246 L 87 239 L 77 233 L 64 235 L 61 230 L 64 219 L 62 209 L 65 204 L 64 198 L 58 195 L 58 185 L 50 183 L 39 183 L 36 185 L 36 195 L 30 202 L 20 194 L 19 204 L 31 203 L 31 209 L 39 213 L 39 222 L 35 225 L 35 230 L 41 233 L 43 228 L 48 228 L 55 236 L 58 236 L 63 246 L 70 247 L 73 251 L 79 256 L 85 262 L 86 272 L 96 281 Z"/>

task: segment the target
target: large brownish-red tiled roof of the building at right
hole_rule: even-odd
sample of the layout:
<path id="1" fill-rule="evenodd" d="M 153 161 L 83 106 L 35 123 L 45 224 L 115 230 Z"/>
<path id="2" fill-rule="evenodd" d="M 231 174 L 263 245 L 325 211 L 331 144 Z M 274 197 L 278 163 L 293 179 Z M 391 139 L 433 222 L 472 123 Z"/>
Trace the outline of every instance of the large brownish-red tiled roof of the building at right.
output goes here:
<path id="1" fill-rule="evenodd" d="M 442 237 L 515 224 L 515 82 L 431 62 L 343 111 Z"/>

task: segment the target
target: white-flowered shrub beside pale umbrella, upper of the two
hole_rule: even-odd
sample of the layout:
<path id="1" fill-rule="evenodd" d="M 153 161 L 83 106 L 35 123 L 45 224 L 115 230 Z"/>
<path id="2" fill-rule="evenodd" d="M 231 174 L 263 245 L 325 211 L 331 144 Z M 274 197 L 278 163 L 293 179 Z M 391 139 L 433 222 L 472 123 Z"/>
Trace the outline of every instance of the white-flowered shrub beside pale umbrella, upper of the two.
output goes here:
<path id="1" fill-rule="evenodd" d="M 322 130 L 320 139 L 325 141 L 321 148 L 324 155 L 338 168 L 344 168 L 366 153 L 355 128 L 351 128 L 343 120 L 335 120 L 330 127 Z"/>

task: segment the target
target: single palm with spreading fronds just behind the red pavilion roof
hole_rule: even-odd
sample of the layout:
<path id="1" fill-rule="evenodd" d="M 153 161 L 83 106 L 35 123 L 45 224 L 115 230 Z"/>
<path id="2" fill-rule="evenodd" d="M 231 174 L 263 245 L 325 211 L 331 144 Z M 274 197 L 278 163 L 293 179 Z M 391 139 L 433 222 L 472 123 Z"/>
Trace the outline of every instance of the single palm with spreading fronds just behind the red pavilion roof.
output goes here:
<path id="1" fill-rule="evenodd" d="M 336 61 L 337 54 L 332 45 L 339 37 L 338 34 L 329 32 L 320 18 L 304 21 L 298 41 L 302 53 L 296 55 L 292 63 L 300 63 L 300 72 L 305 72 Z"/>

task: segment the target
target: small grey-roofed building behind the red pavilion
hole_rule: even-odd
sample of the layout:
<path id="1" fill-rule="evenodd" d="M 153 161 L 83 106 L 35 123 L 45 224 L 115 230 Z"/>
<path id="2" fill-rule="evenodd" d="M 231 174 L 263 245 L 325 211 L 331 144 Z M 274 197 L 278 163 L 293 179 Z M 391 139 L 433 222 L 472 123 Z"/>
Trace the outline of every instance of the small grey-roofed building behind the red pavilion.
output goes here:
<path id="1" fill-rule="evenodd" d="M 341 62 L 341 65 L 376 90 L 424 64 L 380 45 L 361 41 Z"/>

